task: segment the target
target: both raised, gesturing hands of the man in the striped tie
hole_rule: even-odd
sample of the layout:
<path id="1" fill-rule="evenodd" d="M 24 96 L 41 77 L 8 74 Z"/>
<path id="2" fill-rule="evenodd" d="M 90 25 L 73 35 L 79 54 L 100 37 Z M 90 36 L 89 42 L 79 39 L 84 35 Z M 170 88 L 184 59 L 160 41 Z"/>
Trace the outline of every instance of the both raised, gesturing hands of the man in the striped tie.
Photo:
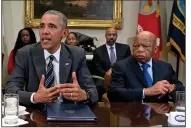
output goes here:
<path id="1" fill-rule="evenodd" d="M 42 75 L 38 91 L 33 97 L 34 102 L 51 103 L 54 102 L 58 96 L 63 96 L 65 99 L 72 100 L 74 102 L 86 100 L 86 91 L 80 88 L 75 72 L 72 73 L 72 80 L 73 83 L 58 84 L 50 88 L 45 88 L 45 76 Z"/>

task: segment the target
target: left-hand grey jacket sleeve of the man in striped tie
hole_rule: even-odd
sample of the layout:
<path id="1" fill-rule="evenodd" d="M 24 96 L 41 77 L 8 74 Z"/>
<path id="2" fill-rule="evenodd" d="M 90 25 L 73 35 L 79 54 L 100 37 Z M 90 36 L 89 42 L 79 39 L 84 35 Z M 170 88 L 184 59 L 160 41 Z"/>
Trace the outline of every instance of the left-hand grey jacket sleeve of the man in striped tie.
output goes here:
<path id="1" fill-rule="evenodd" d="M 6 93 L 16 93 L 19 95 L 19 102 L 21 104 L 30 105 L 30 97 L 32 92 L 25 91 L 25 83 L 27 77 L 27 53 L 21 50 L 17 51 L 15 57 L 15 68 L 12 74 L 9 76 L 7 86 L 5 88 Z"/>

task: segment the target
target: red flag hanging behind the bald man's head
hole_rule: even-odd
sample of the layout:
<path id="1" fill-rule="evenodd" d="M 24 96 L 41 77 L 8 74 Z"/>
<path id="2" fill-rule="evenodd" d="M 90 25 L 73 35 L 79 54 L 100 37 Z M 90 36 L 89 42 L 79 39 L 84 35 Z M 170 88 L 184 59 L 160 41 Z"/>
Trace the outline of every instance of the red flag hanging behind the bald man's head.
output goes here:
<path id="1" fill-rule="evenodd" d="M 157 36 L 158 50 L 153 58 L 159 59 L 162 50 L 160 4 L 157 0 L 141 0 L 138 14 L 137 33 L 150 31 Z"/>

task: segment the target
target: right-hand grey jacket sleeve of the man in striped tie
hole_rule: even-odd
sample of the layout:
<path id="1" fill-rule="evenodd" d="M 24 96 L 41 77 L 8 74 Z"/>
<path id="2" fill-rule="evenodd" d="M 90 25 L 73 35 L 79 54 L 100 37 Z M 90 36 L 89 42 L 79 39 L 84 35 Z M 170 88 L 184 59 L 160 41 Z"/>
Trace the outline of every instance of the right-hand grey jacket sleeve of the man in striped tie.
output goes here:
<path id="1" fill-rule="evenodd" d="M 98 94 L 96 86 L 93 82 L 93 78 L 89 72 L 89 69 L 86 65 L 86 58 L 85 58 L 85 52 L 82 50 L 81 52 L 81 63 L 78 66 L 78 82 L 82 89 L 89 90 L 91 92 L 91 103 L 94 104 L 98 101 Z"/>

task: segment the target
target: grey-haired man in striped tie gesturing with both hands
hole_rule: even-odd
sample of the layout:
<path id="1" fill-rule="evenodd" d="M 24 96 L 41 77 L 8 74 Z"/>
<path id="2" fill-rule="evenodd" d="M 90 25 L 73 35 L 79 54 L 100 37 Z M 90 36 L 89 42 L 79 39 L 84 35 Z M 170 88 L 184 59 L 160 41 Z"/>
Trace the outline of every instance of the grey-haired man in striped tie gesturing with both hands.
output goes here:
<path id="1" fill-rule="evenodd" d="M 83 49 L 61 42 L 67 18 L 50 10 L 40 21 L 40 43 L 20 49 L 6 93 L 17 93 L 23 105 L 52 102 L 95 103 L 97 90 Z"/>

